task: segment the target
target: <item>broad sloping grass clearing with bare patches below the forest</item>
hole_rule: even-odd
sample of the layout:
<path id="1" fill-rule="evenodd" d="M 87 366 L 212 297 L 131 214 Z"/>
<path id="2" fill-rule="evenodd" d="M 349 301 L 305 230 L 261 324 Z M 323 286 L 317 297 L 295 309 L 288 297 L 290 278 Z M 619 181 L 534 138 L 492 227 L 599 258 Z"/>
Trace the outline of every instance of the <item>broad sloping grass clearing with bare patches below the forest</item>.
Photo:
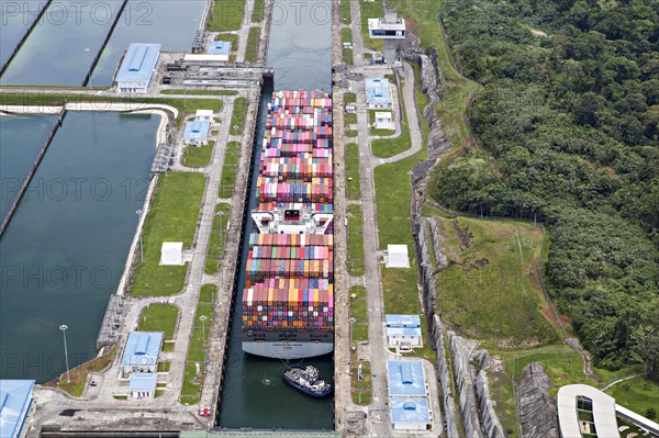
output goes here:
<path id="1" fill-rule="evenodd" d="M 539 227 L 466 217 L 435 222 L 450 262 L 437 277 L 437 310 L 445 322 L 503 349 L 558 340 L 541 313 L 546 302 L 535 269 Z"/>

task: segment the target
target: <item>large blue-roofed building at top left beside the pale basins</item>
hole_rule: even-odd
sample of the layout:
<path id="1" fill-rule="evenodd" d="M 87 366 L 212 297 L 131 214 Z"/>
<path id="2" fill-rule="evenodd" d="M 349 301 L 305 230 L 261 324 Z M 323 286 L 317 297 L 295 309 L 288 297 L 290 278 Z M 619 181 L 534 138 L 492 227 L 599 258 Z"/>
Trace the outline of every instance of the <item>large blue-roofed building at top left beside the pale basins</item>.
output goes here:
<path id="1" fill-rule="evenodd" d="M 160 58 L 160 44 L 131 43 L 114 80 L 121 92 L 148 90 Z"/>

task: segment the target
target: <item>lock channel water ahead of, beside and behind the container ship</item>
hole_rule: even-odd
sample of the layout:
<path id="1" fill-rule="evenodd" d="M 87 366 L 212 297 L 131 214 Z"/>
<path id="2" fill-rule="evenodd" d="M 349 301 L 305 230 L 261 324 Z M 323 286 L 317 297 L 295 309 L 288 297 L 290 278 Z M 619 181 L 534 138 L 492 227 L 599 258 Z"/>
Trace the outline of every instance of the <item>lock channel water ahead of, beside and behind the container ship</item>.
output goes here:
<path id="1" fill-rule="evenodd" d="M 331 90 L 331 4 L 316 0 L 311 3 L 278 0 L 275 3 L 268 65 L 275 67 L 277 90 Z M 260 116 L 256 138 L 265 128 L 267 103 L 271 88 L 261 94 Z M 260 142 L 255 143 L 255 157 L 260 154 Z M 254 160 L 253 176 L 258 172 Z M 252 179 L 248 212 L 256 204 L 256 178 Z M 245 236 L 253 232 L 252 221 L 246 222 Z M 241 272 L 245 272 L 247 245 L 241 255 Z M 326 429 L 334 428 L 334 400 L 313 400 L 286 385 L 281 372 L 289 364 L 313 364 L 321 375 L 332 380 L 332 355 L 286 363 L 278 359 L 246 355 L 242 350 L 239 296 L 245 287 L 245 276 L 236 288 L 237 297 L 228 340 L 227 359 L 220 400 L 219 427 L 253 429 Z"/>

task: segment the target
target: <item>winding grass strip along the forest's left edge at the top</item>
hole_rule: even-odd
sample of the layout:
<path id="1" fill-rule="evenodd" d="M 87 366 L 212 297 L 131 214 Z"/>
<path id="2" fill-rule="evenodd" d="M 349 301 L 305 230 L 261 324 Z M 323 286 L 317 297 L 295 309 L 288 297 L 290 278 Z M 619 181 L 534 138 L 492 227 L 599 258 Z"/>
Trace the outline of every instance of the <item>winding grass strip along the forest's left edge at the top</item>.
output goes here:
<path id="1" fill-rule="evenodd" d="M 470 97 L 479 89 L 479 85 L 462 77 L 451 64 L 447 37 L 438 23 L 439 11 L 445 0 L 390 0 L 389 8 L 395 9 L 407 18 L 409 29 L 421 38 L 423 47 L 437 48 L 437 63 L 442 70 L 442 101 L 437 106 L 437 115 L 442 128 L 454 146 L 463 147 L 469 144 L 469 128 L 462 115 L 467 111 Z"/>

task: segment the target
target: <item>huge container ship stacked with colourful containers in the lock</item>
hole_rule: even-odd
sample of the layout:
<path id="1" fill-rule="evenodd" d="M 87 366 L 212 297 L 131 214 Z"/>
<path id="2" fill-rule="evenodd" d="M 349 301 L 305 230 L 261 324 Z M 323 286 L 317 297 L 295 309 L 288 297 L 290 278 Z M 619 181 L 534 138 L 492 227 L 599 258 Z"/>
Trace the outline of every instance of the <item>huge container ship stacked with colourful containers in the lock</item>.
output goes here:
<path id="1" fill-rule="evenodd" d="M 332 98 L 277 91 L 252 211 L 243 350 L 299 359 L 334 349 Z"/>

